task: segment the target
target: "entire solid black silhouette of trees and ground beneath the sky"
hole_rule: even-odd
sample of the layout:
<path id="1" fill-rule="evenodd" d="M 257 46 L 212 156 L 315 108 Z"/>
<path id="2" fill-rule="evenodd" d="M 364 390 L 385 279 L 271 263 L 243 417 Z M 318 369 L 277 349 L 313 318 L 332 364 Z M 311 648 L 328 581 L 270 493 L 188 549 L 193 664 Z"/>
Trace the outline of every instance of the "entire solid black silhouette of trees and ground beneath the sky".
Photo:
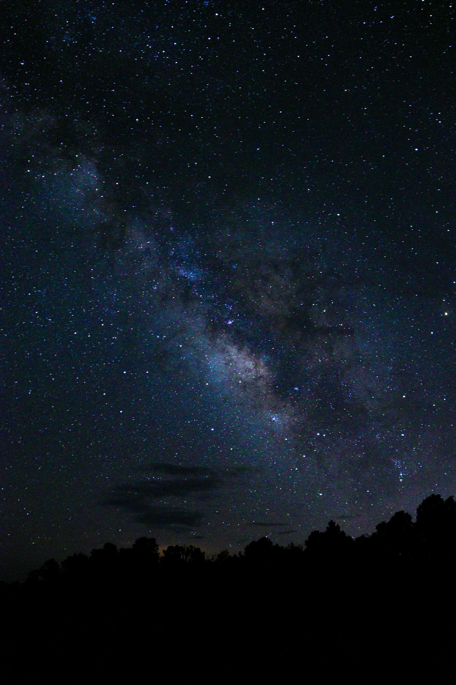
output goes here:
<path id="1" fill-rule="evenodd" d="M 416 521 L 397 512 L 356 539 L 330 521 L 304 545 L 263 537 L 237 554 L 106 543 L 1 585 L 3 671 L 17 682 L 28 660 L 46 678 L 69 668 L 121 682 L 158 667 L 196 677 L 204 663 L 224 680 L 224 664 L 239 677 L 248 664 L 252 677 L 282 680 L 317 669 L 319 680 L 335 670 L 372 682 L 384 669 L 389 682 L 418 669 L 440 682 L 454 651 L 455 560 L 456 502 L 440 495 Z"/>

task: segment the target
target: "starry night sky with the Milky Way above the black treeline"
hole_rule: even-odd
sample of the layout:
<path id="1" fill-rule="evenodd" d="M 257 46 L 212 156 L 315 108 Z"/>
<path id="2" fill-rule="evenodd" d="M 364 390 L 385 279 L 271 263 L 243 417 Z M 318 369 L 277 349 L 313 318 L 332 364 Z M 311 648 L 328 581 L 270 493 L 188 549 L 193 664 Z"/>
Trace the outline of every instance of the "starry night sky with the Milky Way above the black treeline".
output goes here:
<path id="1" fill-rule="evenodd" d="M 2 14 L 1 577 L 455 494 L 452 3 Z"/>

